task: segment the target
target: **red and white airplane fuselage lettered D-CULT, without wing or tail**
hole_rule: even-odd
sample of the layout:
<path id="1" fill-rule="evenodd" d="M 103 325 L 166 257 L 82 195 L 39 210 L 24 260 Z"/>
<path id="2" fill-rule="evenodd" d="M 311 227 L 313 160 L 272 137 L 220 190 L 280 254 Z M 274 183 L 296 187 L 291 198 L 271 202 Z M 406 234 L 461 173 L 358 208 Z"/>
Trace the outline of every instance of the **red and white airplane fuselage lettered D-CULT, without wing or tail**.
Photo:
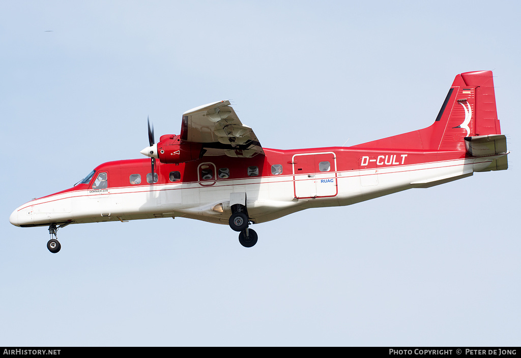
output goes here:
<path id="1" fill-rule="evenodd" d="M 441 184 L 485 170 L 501 157 L 343 147 L 265 152 L 266 156 L 252 159 L 215 157 L 158 164 L 153 184 L 145 180 L 150 173 L 147 159 L 104 163 L 89 183 L 29 201 L 9 220 L 28 227 L 182 216 L 228 224 L 230 194 L 245 193 L 251 221 L 262 223 L 308 208 L 345 206 Z M 101 173 L 107 174 L 107 187 L 93 188 Z M 131 184 L 137 175 L 141 182 Z"/>

